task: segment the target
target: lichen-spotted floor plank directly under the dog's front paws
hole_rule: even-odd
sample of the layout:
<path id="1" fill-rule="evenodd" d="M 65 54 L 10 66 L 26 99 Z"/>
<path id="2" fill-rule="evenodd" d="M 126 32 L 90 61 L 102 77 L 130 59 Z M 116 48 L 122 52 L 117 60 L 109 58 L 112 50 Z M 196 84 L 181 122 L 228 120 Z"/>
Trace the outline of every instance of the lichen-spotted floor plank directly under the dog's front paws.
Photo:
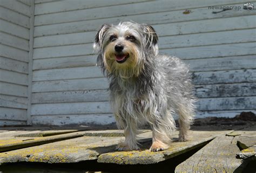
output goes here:
<path id="1" fill-rule="evenodd" d="M 140 151 L 118 151 L 102 154 L 98 158 L 99 163 L 115 164 L 153 164 L 170 159 L 174 156 L 183 154 L 193 148 L 197 148 L 205 142 L 214 139 L 215 136 L 225 133 L 225 131 L 201 132 L 191 131 L 191 140 L 187 142 L 173 141 L 169 149 L 164 151 L 152 152 L 147 148 Z M 173 135 L 172 138 L 178 135 Z"/>

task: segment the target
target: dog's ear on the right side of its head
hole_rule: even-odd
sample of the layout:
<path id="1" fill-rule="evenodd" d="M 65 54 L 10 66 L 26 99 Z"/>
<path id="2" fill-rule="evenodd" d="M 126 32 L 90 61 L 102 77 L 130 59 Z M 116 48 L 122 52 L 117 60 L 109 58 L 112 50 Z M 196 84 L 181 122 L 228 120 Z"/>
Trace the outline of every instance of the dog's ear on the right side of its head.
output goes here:
<path id="1" fill-rule="evenodd" d="M 144 32 L 145 43 L 144 46 L 147 50 L 151 50 L 153 54 L 158 54 L 158 36 L 156 30 L 152 26 L 147 24 L 142 24 L 142 29 Z"/>

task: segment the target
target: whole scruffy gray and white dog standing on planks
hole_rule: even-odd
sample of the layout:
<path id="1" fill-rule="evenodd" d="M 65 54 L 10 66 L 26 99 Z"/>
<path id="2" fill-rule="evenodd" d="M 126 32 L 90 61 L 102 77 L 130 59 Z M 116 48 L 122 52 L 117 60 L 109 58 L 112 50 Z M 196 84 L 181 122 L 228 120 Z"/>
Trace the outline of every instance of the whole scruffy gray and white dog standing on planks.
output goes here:
<path id="1" fill-rule="evenodd" d="M 151 151 L 169 146 L 179 115 L 179 141 L 187 141 L 194 97 L 187 66 L 178 58 L 158 54 L 152 26 L 135 22 L 102 25 L 93 44 L 99 65 L 110 80 L 110 96 L 117 126 L 125 141 L 118 150 L 139 149 L 138 127 L 149 123 Z"/>

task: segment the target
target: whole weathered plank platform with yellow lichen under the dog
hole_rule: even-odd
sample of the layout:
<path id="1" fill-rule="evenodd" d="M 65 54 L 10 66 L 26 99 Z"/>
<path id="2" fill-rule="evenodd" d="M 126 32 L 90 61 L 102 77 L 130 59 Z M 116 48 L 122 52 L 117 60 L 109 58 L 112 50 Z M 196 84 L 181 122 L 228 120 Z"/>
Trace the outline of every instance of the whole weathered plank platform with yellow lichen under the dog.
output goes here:
<path id="1" fill-rule="evenodd" d="M 190 140 L 178 142 L 178 132 L 172 135 L 169 149 L 149 150 L 151 130 L 140 130 L 141 149 L 116 151 L 124 140 L 122 130 L 93 130 L 93 128 L 67 128 L 40 130 L 24 127 L 0 129 L 0 164 L 27 163 L 79 163 L 97 161 L 100 164 L 149 165 L 176 157 L 194 149 L 190 158 L 176 167 L 176 172 L 233 172 L 245 168 L 243 160 L 255 158 L 256 128 L 242 130 L 207 129 L 190 130 Z M 238 127 L 237 127 L 238 129 Z"/>

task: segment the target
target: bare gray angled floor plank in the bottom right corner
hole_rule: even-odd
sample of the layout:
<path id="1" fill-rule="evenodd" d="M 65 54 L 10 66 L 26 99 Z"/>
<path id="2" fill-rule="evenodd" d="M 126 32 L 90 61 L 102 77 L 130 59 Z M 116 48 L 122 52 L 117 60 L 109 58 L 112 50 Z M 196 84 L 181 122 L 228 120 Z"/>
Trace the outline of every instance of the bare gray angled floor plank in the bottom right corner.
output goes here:
<path id="1" fill-rule="evenodd" d="M 246 135 L 247 132 L 249 136 Z M 244 131 L 242 136 L 221 135 L 217 137 L 179 164 L 175 172 L 241 172 L 246 167 L 246 163 L 242 164 L 241 160 L 235 158 L 235 154 L 240 151 L 237 142 L 242 138 L 248 139 L 251 143 L 255 142 L 250 140 L 250 134 L 250 131 Z"/>

